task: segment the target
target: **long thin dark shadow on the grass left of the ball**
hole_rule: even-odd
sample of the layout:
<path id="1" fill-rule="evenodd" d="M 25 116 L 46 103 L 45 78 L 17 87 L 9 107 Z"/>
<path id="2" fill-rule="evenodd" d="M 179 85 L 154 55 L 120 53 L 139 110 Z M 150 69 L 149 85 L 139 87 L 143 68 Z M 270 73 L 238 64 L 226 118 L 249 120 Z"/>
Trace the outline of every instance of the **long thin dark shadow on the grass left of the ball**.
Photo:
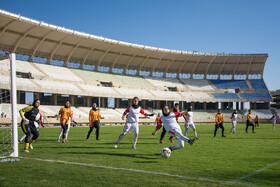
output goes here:
<path id="1" fill-rule="evenodd" d="M 128 154 L 128 153 L 108 153 L 108 152 L 64 152 L 62 154 L 89 154 L 89 155 L 108 155 L 108 156 L 118 156 L 118 157 L 131 157 L 131 158 L 142 158 L 146 160 L 156 160 L 156 154 Z"/>

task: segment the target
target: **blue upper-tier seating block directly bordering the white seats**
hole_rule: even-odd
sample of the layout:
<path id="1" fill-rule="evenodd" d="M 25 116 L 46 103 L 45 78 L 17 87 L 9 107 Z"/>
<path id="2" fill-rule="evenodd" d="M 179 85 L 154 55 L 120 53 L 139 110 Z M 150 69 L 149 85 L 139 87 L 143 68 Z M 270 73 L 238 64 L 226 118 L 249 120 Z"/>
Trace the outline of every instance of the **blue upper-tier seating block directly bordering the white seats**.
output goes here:
<path id="1" fill-rule="evenodd" d="M 218 89 L 249 89 L 245 80 L 210 80 Z"/>

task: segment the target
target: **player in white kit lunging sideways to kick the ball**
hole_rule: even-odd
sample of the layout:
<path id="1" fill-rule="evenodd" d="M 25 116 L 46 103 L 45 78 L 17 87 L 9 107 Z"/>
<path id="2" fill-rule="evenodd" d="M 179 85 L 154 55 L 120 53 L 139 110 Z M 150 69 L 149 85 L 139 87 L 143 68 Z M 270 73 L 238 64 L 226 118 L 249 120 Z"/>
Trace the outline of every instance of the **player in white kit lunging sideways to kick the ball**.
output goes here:
<path id="1" fill-rule="evenodd" d="M 188 113 L 187 111 L 182 112 L 182 113 L 170 112 L 167 105 L 162 107 L 163 116 L 161 116 L 161 118 L 160 118 L 161 121 L 160 122 L 163 123 L 163 125 L 166 129 L 166 132 L 168 132 L 171 136 L 176 137 L 176 139 L 178 141 L 177 145 L 169 147 L 169 149 L 171 151 L 183 148 L 184 147 L 184 142 L 188 142 L 190 145 L 192 145 L 193 142 L 195 141 L 195 139 L 187 138 L 186 136 L 184 136 L 182 134 L 181 127 L 176 121 L 176 118 L 187 115 L 187 113 Z"/>

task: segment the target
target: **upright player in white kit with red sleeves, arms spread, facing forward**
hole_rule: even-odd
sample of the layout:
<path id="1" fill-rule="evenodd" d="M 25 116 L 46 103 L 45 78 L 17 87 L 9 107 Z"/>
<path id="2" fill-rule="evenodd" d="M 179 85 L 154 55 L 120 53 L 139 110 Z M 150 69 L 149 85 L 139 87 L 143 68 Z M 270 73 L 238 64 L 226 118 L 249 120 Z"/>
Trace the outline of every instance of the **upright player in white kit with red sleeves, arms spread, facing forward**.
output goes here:
<path id="1" fill-rule="evenodd" d="M 114 148 L 118 147 L 118 144 L 121 141 L 121 139 L 126 135 L 126 133 L 128 133 L 130 131 L 130 129 L 132 129 L 133 134 L 134 134 L 132 148 L 136 149 L 136 143 L 137 143 L 138 134 L 139 134 L 139 126 L 138 126 L 139 114 L 143 114 L 144 116 L 153 116 L 154 115 L 154 114 L 147 114 L 144 112 L 144 110 L 138 105 L 138 103 L 139 103 L 138 97 L 134 97 L 132 99 L 132 103 L 133 104 L 131 106 L 127 107 L 127 109 L 123 113 L 122 120 L 124 120 L 125 116 L 128 114 L 126 124 L 125 124 L 123 132 L 119 136 Z"/>

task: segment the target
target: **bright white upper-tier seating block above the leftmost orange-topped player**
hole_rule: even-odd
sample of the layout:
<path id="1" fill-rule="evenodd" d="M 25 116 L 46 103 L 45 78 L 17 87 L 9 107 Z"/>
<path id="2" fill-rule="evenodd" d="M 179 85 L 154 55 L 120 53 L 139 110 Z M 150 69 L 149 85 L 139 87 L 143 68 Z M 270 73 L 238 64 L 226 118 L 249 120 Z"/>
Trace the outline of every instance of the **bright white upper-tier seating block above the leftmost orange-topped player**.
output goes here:
<path id="1" fill-rule="evenodd" d="M 78 81 L 83 82 L 78 76 L 71 72 L 69 68 L 58 67 L 46 64 L 34 63 L 41 71 L 47 74 L 52 79 L 65 80 L 65 81 Z"/>

